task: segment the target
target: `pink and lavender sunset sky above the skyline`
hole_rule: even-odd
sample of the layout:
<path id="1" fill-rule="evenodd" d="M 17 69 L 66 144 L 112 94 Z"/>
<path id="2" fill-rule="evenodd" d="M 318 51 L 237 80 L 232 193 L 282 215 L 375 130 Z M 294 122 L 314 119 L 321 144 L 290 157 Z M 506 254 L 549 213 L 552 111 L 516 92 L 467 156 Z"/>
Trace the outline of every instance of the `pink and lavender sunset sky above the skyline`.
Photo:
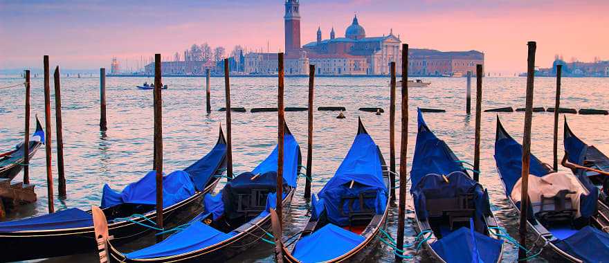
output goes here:
<path id="1" fill-rule="evenodd" d="M 207 42 L 271 52 L 284 46 L 283 1 L 6 1 L 0 0 L 0 69 L 109 67 L 116 56 L 171 56 Z M 609 1 L 302 0 L 301 44 L 332 26 L 345 35 L 354 13 L 367 36 L 400 35 L 411 48 L 485 53 L 487 72 L 525 71 L 529 40 L 537 66 L 554 55 L 609 60 Z"/>

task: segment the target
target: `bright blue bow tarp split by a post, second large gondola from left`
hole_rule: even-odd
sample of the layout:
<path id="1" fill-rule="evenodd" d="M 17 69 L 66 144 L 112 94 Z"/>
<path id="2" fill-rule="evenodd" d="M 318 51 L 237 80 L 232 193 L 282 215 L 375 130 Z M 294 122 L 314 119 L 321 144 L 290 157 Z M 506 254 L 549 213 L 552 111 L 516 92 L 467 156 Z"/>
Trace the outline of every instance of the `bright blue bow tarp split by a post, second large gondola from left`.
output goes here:
<path id="1" fill-rule="evenodd" d="M 300 146 L 292 134 L 284 135 L 283 143 L 283 179 L 291 187 L 296 187 L 298 179 L 298 159 L 300 158 Z M 253 174 L 264 174 L 266 172 L 277 172 L 278 149 L 275 146 L 273 152 L 252 171 Z"/>

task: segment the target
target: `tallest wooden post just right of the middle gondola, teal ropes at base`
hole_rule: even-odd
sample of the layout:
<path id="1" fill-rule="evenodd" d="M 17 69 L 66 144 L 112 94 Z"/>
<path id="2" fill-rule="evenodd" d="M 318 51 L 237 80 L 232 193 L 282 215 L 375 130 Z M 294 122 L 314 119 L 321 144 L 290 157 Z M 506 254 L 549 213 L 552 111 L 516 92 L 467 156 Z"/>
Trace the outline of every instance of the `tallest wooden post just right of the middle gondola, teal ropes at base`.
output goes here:
<path id="1" fill-rule="evenodd" d="M 397 221 L 397 248 L 404 249 L 404 219 L 406 217 L 406 153 L 408 152 L 408 44 L 402 44 L 402 131 L 400 145 L 400 190 Z M 398 252 L 399 253 L 399 252 Z M 398 255 L 395 260 L 402 261 Z"/>

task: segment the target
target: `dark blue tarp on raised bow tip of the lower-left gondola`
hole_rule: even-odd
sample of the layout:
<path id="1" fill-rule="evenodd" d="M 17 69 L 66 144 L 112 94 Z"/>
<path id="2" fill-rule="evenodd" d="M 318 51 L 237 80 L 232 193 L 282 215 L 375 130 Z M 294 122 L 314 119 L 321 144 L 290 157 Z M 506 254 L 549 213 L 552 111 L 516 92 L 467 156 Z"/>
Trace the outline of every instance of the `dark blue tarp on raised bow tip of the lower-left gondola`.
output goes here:
<path id="1" fill-rule="evenodd" d="M 216 170 L 222 165 L 226 156 L 226 144 L 217 143 L 214 148 L 206 156 L 199 159 L 186 169 L 184 172 L 190 174 L 190 178 L 194 182 L 194 188 L 197 191 L 203 191 L 207 186 L 208 181 Z"/>

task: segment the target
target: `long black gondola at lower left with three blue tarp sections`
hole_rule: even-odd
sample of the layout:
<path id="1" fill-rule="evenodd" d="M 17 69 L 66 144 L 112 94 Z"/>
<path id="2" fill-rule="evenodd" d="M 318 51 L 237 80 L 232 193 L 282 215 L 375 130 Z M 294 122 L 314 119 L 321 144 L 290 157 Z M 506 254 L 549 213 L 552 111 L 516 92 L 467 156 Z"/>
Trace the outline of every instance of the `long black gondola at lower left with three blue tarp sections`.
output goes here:
<path id="1" fill-rule="evenodd" d="M 192 208 L 213 190 L 226 167 L 226 140 L 220 129 L 213 149 L 183 171 L 163 177 L 163 218 L 166 222 Z M 147 233 L 156 219 L 154 171 L 131 183 L 122 192 L 104 185 L 101 210 L 109 219 L 109 233 L 125 243 Z M 181 219 L 183 220 L 183 219 Z M 147 226 L 143 226 L 147 225 Z M 0 223 L 0 262 L 31 260 L 94 251 L 91 211 L 78 208 Z"/>

